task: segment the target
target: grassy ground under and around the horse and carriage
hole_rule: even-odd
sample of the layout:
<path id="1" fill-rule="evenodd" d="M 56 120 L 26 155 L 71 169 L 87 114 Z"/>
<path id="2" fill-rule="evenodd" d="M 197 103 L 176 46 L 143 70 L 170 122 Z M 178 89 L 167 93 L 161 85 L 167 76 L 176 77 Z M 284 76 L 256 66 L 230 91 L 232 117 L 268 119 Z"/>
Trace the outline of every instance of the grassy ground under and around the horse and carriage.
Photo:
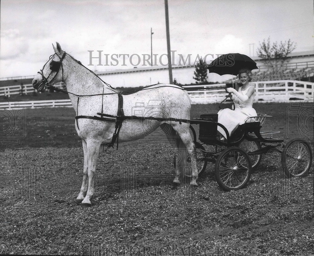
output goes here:
<path id="1" fill-rule="evenodd" d="M 273 116 L 263 130 L 280 131 L 285 143 L 313 122 L 298 120 L 302 108 L 291 112 L 291 104 L 254 107 Z M 191 117 L 217 111 L 193 105 Z M 1 254 L 313 254 L 313 165 L 309 176 L 287 179 L 280 156 L 265 156 L 246 188 L 224 192 L 208 164 L 198 188 L 173 188 L 172 147 L 150 137 L 101 149 L 93 206 L 82 209 L 73 109 L 26 109 L 18 117 L 0 140 Z M 313 149 L 313 137 L 308 141 Z M 134 179 L 125 176 L 129 166 Z"/>

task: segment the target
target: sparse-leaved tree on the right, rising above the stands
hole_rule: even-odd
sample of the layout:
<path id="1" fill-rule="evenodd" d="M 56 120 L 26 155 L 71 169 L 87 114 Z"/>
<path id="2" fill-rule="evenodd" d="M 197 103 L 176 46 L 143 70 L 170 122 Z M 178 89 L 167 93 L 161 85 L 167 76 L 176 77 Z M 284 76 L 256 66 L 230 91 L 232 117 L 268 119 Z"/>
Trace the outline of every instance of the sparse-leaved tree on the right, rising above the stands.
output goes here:
<path id="1" fill-rule="evenodd" d="M 295 49 L 296 43 L 287 41 L 280 41 L 280 43 L 270 43 L 270 37 L 263 40 L 257 48 L 257 56 L 268 67 L 268 70 L 275 72 L 280 71 L 288 60 L 288 55 Z"/>

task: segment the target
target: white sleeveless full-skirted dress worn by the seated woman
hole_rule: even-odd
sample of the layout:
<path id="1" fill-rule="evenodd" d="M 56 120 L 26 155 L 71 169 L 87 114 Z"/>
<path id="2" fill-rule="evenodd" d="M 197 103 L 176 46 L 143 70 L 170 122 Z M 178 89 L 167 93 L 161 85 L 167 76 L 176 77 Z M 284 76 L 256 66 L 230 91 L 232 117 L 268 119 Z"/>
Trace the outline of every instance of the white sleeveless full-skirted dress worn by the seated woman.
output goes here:
<path id="1" fill-rule="evenodd" d="M 252 86 L 252 85 L 251 85 Z M 249 86 L 246 90 L 239 89 L 239 93 L 242 95 L 246 95 L 248 89 L 251 87 Z M 229 134 L 231 135 L 236 128 L 243 124 L 247 117 L 254 117 L 257 115 L 253 106 L 255 92 L 251 95 L 251 97 L 246 101 L 241 101 L 235 104 L 235 110 L 231 110 L 229 108 L 219 110 L 218 112 L 218 122 L 221 123 L 225 128 L 227 128 Z M 221 127 L 217 127 L 217 130 L 225 137 L 226 133 Z"/>

